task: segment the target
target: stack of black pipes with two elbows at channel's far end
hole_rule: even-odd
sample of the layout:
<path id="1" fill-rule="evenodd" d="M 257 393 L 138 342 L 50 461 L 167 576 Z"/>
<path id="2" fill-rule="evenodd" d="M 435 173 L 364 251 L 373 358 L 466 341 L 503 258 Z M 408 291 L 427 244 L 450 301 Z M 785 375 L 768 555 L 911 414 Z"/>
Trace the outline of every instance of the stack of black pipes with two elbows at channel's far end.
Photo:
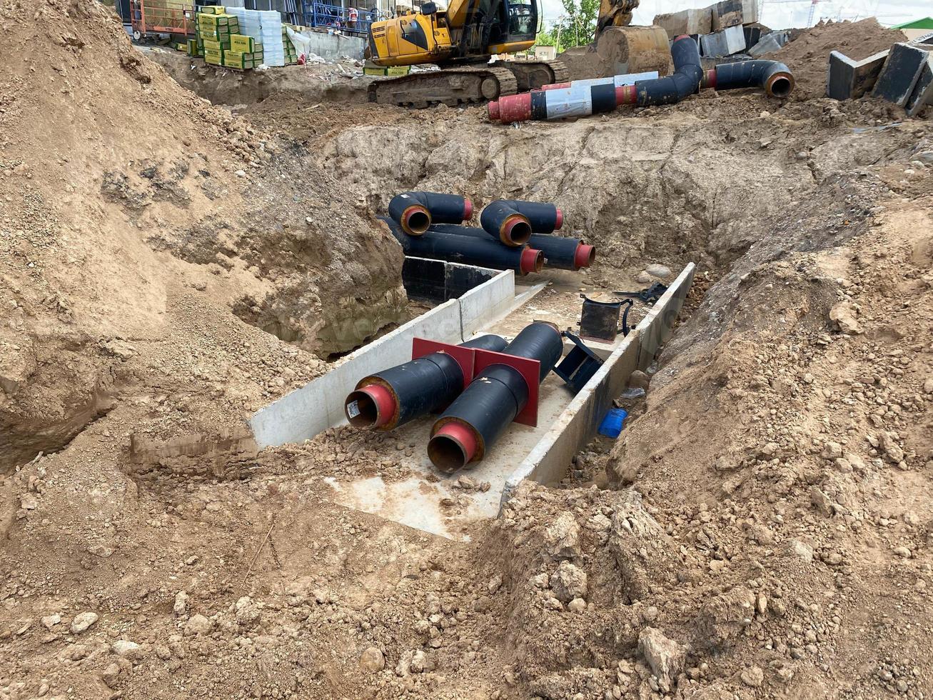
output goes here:
<path id="1" fill-rule="evenodd" d="M 482 210 L 482 228 L 460 225 L 471 214 L 466 198 L 405 192 L 389 204 L 389 217 L 379 218 L 405 254 L 419 258 L 524 275 L 541 272 L 545 264 L 579 270 L 596 257 L 595 248 L 579 238 L 550 235 L 564 224 L 564 213 L 554 204 L 496 200 Z"/>

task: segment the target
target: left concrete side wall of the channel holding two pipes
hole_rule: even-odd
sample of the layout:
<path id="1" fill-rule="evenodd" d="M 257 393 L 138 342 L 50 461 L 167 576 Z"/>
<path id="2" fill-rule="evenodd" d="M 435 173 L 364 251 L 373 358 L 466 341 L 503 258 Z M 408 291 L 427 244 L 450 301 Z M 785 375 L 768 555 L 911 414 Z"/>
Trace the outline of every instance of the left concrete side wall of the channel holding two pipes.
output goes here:
<path id="1" fill-rule="evenodd" d="M 346 421 L 343 399 L 356 382 L 410 360 L 412 338 L 463 343 L 490 319 L 508 313 L 514 302 L 515 273 L 508 270 L 361 347 L 327 374 L 254 413 L 249 425 L 259 449 L 310 440 L 341 425 Z"/>

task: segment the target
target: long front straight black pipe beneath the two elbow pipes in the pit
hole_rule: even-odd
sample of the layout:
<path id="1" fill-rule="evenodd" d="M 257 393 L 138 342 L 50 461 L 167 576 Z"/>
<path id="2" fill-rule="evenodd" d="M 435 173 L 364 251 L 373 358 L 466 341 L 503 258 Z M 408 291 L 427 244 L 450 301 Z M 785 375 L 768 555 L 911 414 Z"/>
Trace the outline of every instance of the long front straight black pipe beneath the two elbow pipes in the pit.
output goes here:
<path id="1" fill-rule="evenodd" d="M 526 245 L 510 248 L 497 244 L 489 236 L 475 239 L 436 231 L 409 236 L 391 218 L 379 217 L 379 220 L 389 227 L 408 256 L 448 260 L 493 270 L 514 270 L 520 275 L 539 273 L 544 267 L 544 254 Z"/>

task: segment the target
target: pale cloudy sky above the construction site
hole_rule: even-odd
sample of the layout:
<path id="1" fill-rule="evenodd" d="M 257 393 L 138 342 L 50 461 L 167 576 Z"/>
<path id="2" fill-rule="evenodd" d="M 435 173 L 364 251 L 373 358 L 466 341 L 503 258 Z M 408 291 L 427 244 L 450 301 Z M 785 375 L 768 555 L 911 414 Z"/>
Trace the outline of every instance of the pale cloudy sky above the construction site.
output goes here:
<path id="1" fill-rule="evenodd" d="M 541 0 L 544 20 L 550 24 L 563 11 L 561 0 Z M 676 12 L 689 7 L 706 7 L 713 0 L 641 0 L 634 12 L 633 24 L 650 24 L 655 15 Z M 811 0 L 763 0 L 759 21 L 772 29 L 805 27 L 810 15 Z M 864 20 L 877 17 L 882 24 L 900 24 L 933 16 L 930 0 L 816 0 L 814 23 L 827 20 Z"/>

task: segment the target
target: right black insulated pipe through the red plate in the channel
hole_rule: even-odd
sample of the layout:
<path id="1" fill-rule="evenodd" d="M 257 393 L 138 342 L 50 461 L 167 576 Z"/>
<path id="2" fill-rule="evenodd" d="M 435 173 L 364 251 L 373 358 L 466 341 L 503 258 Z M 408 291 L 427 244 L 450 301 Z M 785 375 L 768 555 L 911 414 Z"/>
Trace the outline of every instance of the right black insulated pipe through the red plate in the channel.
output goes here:
<path id="1" fill-rule="evenodd" d="M 541 363 L 538 382 L 561 358 L 564 340 L 551 323 L 536 321 L 522 329 L 504 350 Z M 522 373 L 506 364 L 480 372 L 431 427 L 427 455 L 438 469 L 455 471 L 478 462 L 528 403 Z"/>

